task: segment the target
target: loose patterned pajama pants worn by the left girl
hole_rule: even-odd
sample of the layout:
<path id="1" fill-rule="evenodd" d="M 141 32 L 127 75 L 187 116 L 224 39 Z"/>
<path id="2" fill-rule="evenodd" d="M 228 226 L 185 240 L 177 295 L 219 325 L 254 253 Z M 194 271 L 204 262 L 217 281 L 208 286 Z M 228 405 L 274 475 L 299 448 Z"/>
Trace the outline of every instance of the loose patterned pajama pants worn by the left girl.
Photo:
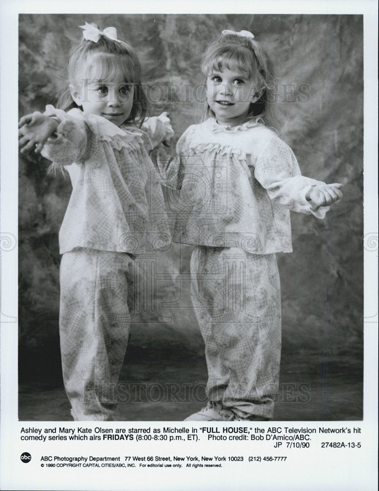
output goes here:
<path id="1" fill-rule="evenodd" d="M 62 256 L 60 349 L 75 420 L 114 418 L 139 280 L 127 253 L 77 248 Z"/>

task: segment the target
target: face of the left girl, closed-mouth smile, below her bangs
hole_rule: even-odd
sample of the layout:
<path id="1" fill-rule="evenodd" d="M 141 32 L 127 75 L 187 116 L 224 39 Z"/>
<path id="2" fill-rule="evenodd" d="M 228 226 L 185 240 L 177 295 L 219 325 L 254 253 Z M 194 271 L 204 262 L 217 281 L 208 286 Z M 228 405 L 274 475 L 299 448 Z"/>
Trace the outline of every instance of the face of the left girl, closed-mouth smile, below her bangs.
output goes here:
<path id="1" fill-rule="evenodd" d="M 84 80 L 80 87 L 70 85 L 70 90 L 84 112 L 103 116 L 116 126 L 128 119 L 133 107 L 134 87 L 124 79 Z"/>

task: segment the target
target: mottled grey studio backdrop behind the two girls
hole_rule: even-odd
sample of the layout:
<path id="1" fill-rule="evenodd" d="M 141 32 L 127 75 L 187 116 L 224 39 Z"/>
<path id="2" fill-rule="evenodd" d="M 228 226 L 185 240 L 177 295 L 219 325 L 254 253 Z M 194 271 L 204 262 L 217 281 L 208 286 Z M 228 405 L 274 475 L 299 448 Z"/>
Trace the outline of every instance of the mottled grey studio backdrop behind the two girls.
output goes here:
<path id="1" fill-rule="evenodd" d="M 304 175 L 344 183 L 344 199 L 325 220 L 292 214 L 292 254 L 279 254 L 283 357 L 362 358 L 363 311 L 363 21 L 311 15 L 21 15 L 20 116 L 54 104 L 65 83 L 78 27 L 114 26 L 135 47 L 153 114 L 168 110 L 176 139 L 202 114 L 201 55 L 222 29 L 251 30 L 271 52 L 288 116 L 283 138 Z M 198 91 L 193 92 L 193 87 Z M 195 94 L 195 96 L 194 96 Z M 47 177 L 48 162 L 20 158 L 20 377 L 60 374 L 58 230 L 70 196 L 68 178 Z M 189 298 L 191 247 L 159 253 L 150 300 L 135 315 L 132 341 L 163 351 L 203 344 Z M 162 302 L 169 302 L 164 304 Z M 178 308 L 179 307 L 179 308 Z M 32 361 L 30 363 L 30 360 Z M 141 362 L 147 363 L 148 360 Z M 27 367 L 27 368 L 26 368 Z"/>

